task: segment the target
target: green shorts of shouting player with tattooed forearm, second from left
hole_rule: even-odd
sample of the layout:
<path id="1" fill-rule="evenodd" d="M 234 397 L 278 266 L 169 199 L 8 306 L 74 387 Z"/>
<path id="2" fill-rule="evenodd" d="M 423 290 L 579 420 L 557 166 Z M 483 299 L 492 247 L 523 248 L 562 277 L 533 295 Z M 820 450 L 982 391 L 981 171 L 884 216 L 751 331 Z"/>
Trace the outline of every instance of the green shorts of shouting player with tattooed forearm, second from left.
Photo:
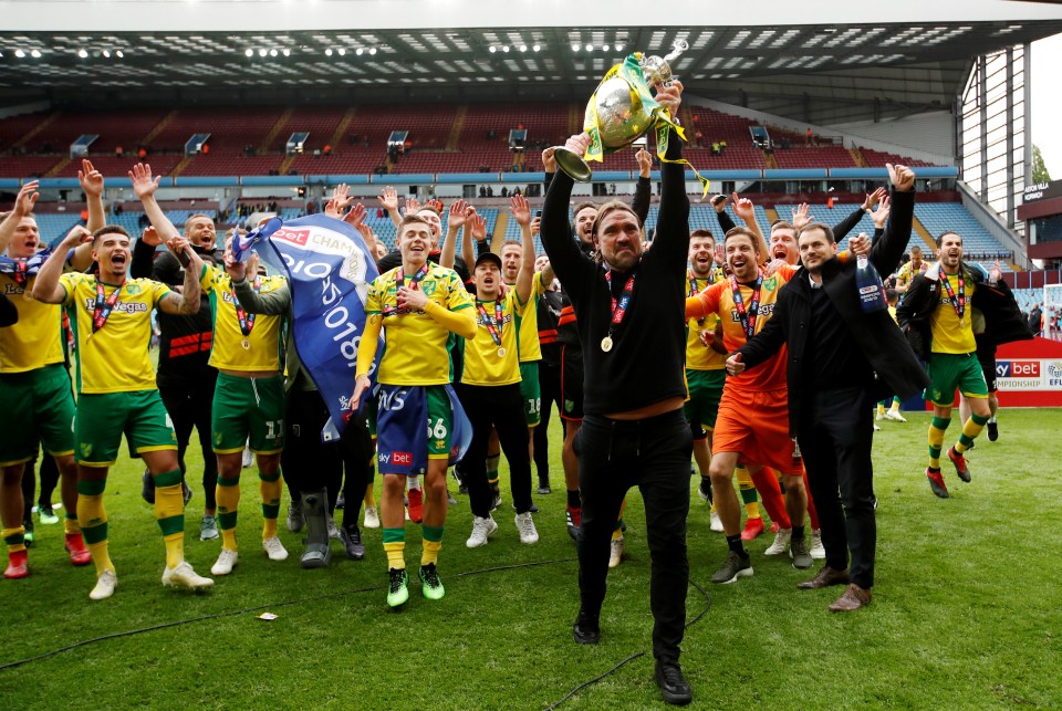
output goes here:
<path id="1" fill-rule="evenodd" d="M 114 464 L 123 432 L 129 445 L 129 457 L 177 449 L 174 422 L 158 390 L 83 394 L 77 398 L 74 442 L 79 464 Z"/>

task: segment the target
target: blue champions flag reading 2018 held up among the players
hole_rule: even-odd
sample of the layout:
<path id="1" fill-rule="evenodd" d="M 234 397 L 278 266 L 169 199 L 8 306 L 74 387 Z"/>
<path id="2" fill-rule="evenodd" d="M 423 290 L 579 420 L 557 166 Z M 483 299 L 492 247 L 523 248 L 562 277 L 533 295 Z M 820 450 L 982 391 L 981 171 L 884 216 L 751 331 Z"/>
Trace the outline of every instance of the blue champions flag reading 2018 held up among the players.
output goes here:
<path id="1" fill-rule="evenodd" d="M 376 262 L 357 230 L 325 215 L 272 218 L 232 245 L 240 260 L 250 249 L 288 274 L 295 351 L 331 415 L 321 437 L 337 441 L 353 415 L 357 345 L 365 331 L 368 285 L 379 275 Z M 374 384 L 383 351 L 381 341 L 369 372 Z"/>

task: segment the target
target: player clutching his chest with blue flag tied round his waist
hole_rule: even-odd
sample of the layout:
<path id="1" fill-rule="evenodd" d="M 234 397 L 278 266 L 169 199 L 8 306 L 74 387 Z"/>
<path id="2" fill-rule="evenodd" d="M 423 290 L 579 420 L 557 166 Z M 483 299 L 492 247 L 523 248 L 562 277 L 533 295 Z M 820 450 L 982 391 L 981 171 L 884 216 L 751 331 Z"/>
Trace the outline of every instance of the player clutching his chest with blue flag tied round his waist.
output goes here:
<path id="1" fill-rule="evenodd" d="M 387 604 L 392 607 L 409 599 L 402 493 L 405 477 L 413 473 L 425 473 L 427 491 L 421 590 L 429 599 L 440 599 L 445 594 L 436 563 L 446 523 L 446 468 L 457 405 L 449 385 L 452 374 L 447 342 L 451 333 L 473 338 L 477 331 L 472 300 L 457 272 L 427 261 L 430 243 L 431 228 L 423 218 L 403 218 L 398 228 L 402 265 L 373 281 L 365 304 L 368 318 L 357 351 L 355 409 L 369 387 L 368 372 L 384 331 L 387 342 L 377 378 L 377 461 L 384 475 L 381 521 L 391 576 Z"/>

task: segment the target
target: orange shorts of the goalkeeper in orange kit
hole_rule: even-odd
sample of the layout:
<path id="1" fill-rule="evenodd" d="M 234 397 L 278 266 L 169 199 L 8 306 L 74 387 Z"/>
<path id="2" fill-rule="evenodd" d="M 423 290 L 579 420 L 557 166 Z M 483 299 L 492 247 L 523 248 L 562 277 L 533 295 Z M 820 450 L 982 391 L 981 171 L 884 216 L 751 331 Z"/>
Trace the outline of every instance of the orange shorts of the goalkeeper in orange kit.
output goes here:
<path id="1" fill-rule="evenodd" d="M 789 396 L 785 390 L 722 389 L 712 452 L 740 452 L 741 463 L 763 464 L 783 474 L 801 474 L 789 436 Z"/>

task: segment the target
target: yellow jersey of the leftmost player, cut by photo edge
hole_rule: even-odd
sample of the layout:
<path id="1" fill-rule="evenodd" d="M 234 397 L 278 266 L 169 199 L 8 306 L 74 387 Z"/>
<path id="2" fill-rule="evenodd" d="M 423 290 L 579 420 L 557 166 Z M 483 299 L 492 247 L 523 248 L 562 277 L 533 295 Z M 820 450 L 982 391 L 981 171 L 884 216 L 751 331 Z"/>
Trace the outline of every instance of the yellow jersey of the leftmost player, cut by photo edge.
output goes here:
<path id="1" fill-rule="evenodd" d="M 37 276 L 19 284 L 0 274 L 0 292 L 19 312 L 19 322 L 0 328 L 0 373 L 27 373 L 63 362 L 63 307 L 30 297 Z"/>

